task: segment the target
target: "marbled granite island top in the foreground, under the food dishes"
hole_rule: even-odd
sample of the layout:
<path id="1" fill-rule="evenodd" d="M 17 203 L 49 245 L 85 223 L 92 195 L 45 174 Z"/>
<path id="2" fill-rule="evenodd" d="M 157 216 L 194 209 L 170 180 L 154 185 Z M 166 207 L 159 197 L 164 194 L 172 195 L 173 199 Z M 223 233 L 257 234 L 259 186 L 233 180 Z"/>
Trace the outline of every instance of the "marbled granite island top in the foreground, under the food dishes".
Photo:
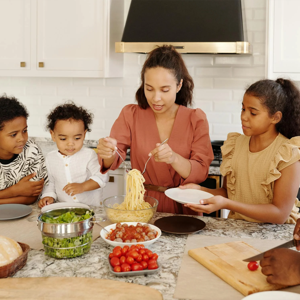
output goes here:
<path id="1" fill-rule="evenodd" d="M 31 205 L 39 212 L 37 203 Z M 93 207 L 96 213 L 104 213 L 103 208 Z M 172 214 L 156 213 L 150 223 Z M 206 227 L 195 234 L 229 236 L 236 238 L 292 239 L 295 225 L 251 223 L 244 220 L 198 217 Z M 150 286 L 161 292 L 164 300 L 173 298 L 187 235 L 172 235 L 162 232 L 161 237 L 149 248 L 158 253 L 161 270 L 144 276 L 116 277 L 109 271 L 107 256 L 113 247 L 97 238 L 89 253 L 72 259 L 54 259 L 44 255 L 44 250 L 30 250 L 27 264 L 13 277 L 93 277 Z"/>

